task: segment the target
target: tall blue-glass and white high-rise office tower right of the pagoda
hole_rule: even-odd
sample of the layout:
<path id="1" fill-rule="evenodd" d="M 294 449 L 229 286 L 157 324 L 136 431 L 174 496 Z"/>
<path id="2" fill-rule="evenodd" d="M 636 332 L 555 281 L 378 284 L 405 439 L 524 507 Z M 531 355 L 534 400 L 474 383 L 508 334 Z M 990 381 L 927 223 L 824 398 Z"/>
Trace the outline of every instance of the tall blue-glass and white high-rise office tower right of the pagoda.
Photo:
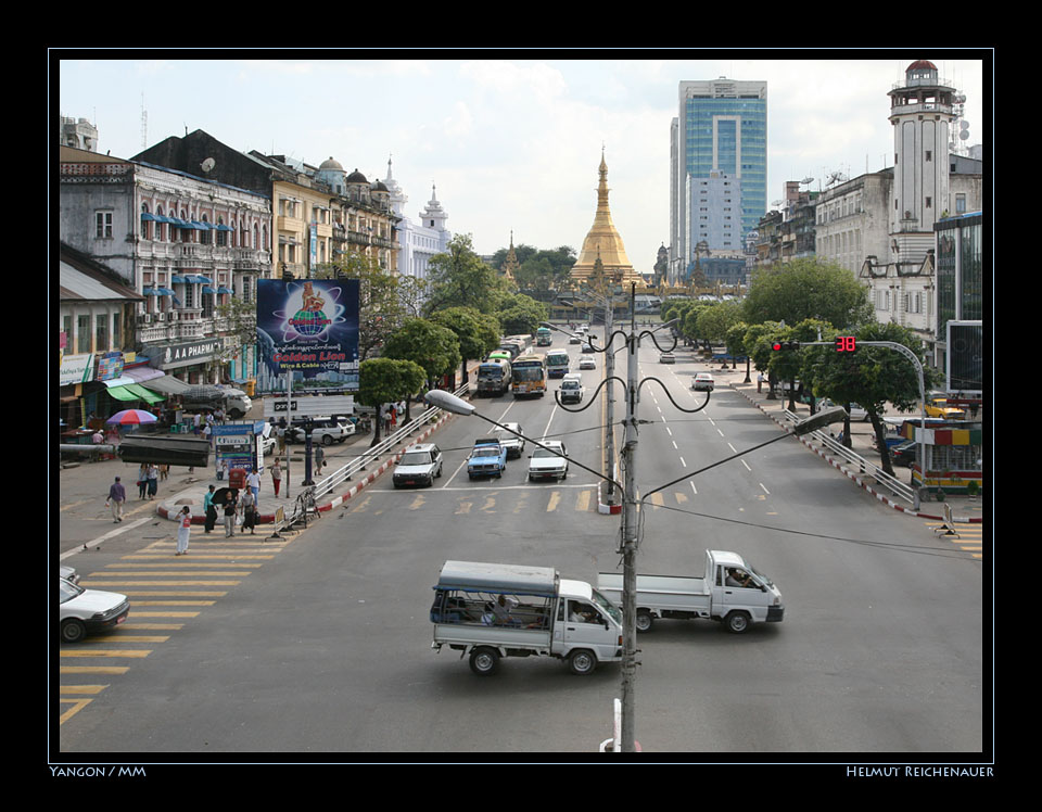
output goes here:
<path id="1" fill-rule="evenodd" d="M 767 211 L 767 83 L 679 84 L 671 127 L 670 280 L 695 249 L 740 253 Z"/>

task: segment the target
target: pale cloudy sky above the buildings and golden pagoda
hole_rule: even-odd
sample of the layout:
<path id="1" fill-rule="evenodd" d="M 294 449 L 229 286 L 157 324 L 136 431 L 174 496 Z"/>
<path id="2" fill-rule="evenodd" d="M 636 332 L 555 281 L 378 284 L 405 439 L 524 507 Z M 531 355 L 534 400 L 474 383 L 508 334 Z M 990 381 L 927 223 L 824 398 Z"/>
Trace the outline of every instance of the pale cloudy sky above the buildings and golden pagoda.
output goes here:
<path id="1" fill-rule="evenodd" d="M 917 59 L 933 62 L 966 94 L 967 143 L 990 147 L 990 62 L 986 68 L 980 59 L 945 59 L 990 60 L 988 53 L 761 60 L 736 50 L 679 61 L 640 59 L 655 51 L 622 52 L 626 59 L 554 59 L 546 51 L 541 59 L 497 59 L 493 51 L 470 59 L 387 51 L 380 54 L 386 59 L 366 60 L 321 59 L 318 51 L 263 60 L 214 53 L 98 60 L 97 52 L 91 59 L 64 52 L 73 59 L 53 65 L 52 102 L 62 115 L 96 124 L 100 151 L 119 157 L 142 150 L 142 110 L 148 145 L 203 129 L 241 151 L 316 166 L 332 156 L 370 180 L 386 177 L 390 157 L 409 198 L 406 214 L 418 219 L 436 185 L 449 229 L 470 233 L 481 254 L 507 245 L 511 230 L 516 244 L 579 251 L 594 219 L 603 148 L 612 219 L 640 271 L 650 270 L 669 240 L 670 123 L 681 81 L 767 83 L 768 204 L 787 180 L 815 178 L 817 189 L 834 172 L 856 177 L 889 166 L 887 91 Z"/>

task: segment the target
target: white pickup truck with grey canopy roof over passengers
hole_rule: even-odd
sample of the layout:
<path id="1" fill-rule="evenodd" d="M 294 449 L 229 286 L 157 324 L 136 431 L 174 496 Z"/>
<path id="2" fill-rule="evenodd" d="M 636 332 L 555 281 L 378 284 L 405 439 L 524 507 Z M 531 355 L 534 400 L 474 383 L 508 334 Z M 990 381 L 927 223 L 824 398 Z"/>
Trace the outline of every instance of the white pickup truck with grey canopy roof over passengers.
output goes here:
<path id="1" fill-rule="evenodd" d="M 573 674 L 622 659 L 622 612 L 549 567 L 446 561 L 431 606 L 432 648 L 470 657 L 478 675 L 504 657 L 556 657 Z"/>

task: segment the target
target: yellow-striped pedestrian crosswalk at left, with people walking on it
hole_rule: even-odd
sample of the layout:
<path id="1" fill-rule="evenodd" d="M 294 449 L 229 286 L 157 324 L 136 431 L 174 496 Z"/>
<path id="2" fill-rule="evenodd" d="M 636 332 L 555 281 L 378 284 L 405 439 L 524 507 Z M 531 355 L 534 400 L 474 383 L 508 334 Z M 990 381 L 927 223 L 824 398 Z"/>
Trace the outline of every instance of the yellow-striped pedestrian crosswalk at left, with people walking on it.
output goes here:
<path id="1" fill-rule="evenodd" d="M 117 592 L 130 599 L 127 621 L 110 633 L 87 637 L 59 651 L 59 724 L 88 707 L 135 662 L 153 654 L 187 623 L 196 620 L 265 564 L 295 536 L 224 536 L 192 526 L 188 555 L 175 557 L 174 525 L 101 570 L 85 574 L 88 589 Z"/>

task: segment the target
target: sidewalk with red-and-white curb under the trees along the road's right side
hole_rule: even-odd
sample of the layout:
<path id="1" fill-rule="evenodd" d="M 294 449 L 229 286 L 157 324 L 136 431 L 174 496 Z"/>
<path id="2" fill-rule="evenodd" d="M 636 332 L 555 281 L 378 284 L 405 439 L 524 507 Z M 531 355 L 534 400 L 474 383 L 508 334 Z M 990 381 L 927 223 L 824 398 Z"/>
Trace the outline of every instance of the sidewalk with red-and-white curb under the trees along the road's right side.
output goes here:
<path id="1" fill-rule="evenodd" d="M 763 414 L 767 417 L 771 417 L 779 426 L 786 426 L 787 421 L 782 417 L 782 413 L 786 410 L 788 406 L 788 398 L 783 398 L 780 390 L 776 392 L 776 399 L 767 399 L 768 388 L 766 381 L 763 384 L 763 391 L 757 391 L 757 370 L 750 369 L 749 377 L 751 381 L 746 383 L 746 365 L 739 364 L 737 369 L 723 370 L 720 368 L 720 363 L 712 361 L 696 361 L 697 372 L 710 372 L 713 376 L 713 379 L 716 384 L 716 389 L 730 388 L 741 394 L 746 399 L 757 406 Z M 800 417 L 805 417 L 811 414 L 811 408 L 808 404 L 797 403 L 796 404 L 796 414 Z M 833 427 L 833 431 L 839 433 L 841 430 L 840 426 Z M 871 464 L 879 464 L 879 453 L 873 447 L 873 430 L 872 423 L 868 421 L 854 421 L 850 422 L 850 435 L 851 435 L 851 449 L 865 458 L 866 461 Z M 904 502 L 897 500 L 890 491 L 886 487 L 881 487 L 876 483 L 874 477 L 869 473 L 862 473 L 855 467 L 851 466 L 846 459 L 833 457 L 827 453 L 826 449 L 822 449 L 818 446 L 812 446 L 811 443 L 801 437 L 800 442 L 803 443 L 808 448 L 816 453 L 819 457 L 826 460 L 837 470 L 842 471 L 850 480 L 855 484 L 863 487 L 865 491 L 871 493 L 880 502 L 889 505 L 894 510 L 900 510 L 912 516 L 917 516 L 924 519 L 933 519 L 933 520 L 943 520 L 944 518 L 944 504 L 951 506 L 952 508 L 952 518 L 957 522 L 982 522 L 984 517 L 984 502 L 981 497 L 973 498 L 969 496 L 961 495 L 946 495 L 944 503 L 940 502 L 923 502 L 919 505 L 918 510 L 914 510 L 912 506 Z M 894 475 L 902 482 L 911 481 L 911 472 L 906 468 L 894 468 Z"/>

